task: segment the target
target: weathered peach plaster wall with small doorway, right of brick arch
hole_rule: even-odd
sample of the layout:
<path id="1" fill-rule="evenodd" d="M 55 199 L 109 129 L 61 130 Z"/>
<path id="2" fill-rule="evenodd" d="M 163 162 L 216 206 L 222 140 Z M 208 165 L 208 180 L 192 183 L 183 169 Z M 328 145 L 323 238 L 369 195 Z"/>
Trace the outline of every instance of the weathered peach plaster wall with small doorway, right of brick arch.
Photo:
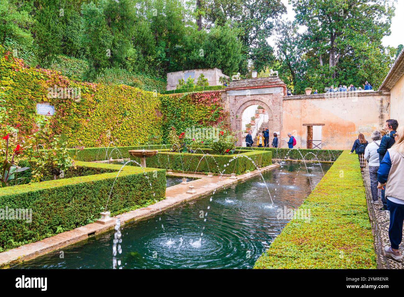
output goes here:
<path id="1" fill-rule="evenodd" d="M 284 97 L 281 138 L 287 140 L 290 132 L 296 137 L 297 147 L 305 148 L 307 127 L 303 124 L 321 123 L 322 142 L 326 144 L 323 149 L 350 149 L 359 133 L 371 141 L 370 134 L 384 127 L 389 111 L 388 92 L 358 92 L 353 97 L 326 98 L 324 94 Z"/>

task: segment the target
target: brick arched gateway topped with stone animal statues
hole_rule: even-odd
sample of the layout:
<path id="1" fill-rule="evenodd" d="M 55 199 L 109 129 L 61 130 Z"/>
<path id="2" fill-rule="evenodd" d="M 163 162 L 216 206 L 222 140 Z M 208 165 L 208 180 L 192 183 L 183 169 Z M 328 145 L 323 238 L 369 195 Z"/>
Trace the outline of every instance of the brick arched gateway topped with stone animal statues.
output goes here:
<path id="1" fill-rule="evenodd" d="M 261 105 L 268 112 L 270 134 L 282 131 L 286 85 L 278 76 L 234 80 L 225 90 L 229 102 L 230 128 L 237 132 L 237 145 L 243 141 L 243 111 L 251 105 Z"/>

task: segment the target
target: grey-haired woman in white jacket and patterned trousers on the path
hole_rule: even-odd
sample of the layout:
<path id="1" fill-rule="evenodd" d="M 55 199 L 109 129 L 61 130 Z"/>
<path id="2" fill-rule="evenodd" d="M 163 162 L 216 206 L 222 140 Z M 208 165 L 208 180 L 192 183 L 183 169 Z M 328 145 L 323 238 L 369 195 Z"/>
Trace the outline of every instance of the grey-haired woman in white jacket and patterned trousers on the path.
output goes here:
<path id="1" fill-rule="evenodd" d="M 370 190 L 372 192 L 372 204 L 379 204 L 377 199 L 377 170 L 379 170 L 379 153 L 377 149 L 379 148 L 381 141 L 381 134 L 379 131 L 374 131 L 372 133 L 372 140 L 368 146 L 365 148 L 364 158 L 369 164 L 369 177 L 370 177 Z"/>

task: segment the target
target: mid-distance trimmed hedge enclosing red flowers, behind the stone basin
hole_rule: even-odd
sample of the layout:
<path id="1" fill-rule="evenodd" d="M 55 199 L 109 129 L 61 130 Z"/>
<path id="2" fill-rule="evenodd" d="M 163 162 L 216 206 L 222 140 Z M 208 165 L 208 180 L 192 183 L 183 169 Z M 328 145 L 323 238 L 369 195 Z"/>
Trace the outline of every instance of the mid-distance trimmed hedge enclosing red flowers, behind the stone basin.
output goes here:
<path id="1" fill-rule="evenodd" d="M 204 151 L 209 153 L 211 150 L 204 149 Z M 272 153 L 270 151 L 257 152 L 242 150 L 240 154 L 234 155 L 205 155 L 205 158 L 200 161 L 203 156 L 202 153 L 173 153 L 168 150 L 162 150 L 153 157 L 147 157 L 146 165 L 147 167 L 179 171 L 184 170 L 185 172 L 221 173 L 221 171 L 225 169 L 224 174 L 234 172 L 239 175 L 257 169 L 248 158 L 252 159 L 256 165 L 267 166 L 272 163 Z M 237 157 L 237 159 L 230 162 L 234 157 Z M 131 156 L 130 159 L 140 163 L 140 158 Z M 135 163 L 132 163 L 132 165 L 138 166 Z M 219 166 L 219 168 L 217 166 Z"/>

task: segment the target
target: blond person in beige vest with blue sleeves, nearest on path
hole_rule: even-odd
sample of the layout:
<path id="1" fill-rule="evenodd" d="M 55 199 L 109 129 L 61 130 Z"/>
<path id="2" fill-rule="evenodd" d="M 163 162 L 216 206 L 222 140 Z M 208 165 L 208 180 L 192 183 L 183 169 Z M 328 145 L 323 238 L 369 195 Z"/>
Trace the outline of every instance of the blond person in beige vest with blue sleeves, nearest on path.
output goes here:
<path id="1" fill-rule="evenodd" d="M 394 133 L 395 144 L 387 149 L 377 172 L 378 188 L 385 190 L 387 207 L 390 212 L 389 240 L 391 246 L 385 246 L 387 257 L 399 261 L 404 220 L 404 127 Z M 388 185 L 385 187 L 385 185 Z"/>

